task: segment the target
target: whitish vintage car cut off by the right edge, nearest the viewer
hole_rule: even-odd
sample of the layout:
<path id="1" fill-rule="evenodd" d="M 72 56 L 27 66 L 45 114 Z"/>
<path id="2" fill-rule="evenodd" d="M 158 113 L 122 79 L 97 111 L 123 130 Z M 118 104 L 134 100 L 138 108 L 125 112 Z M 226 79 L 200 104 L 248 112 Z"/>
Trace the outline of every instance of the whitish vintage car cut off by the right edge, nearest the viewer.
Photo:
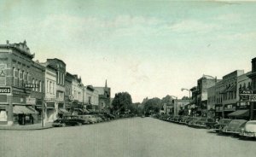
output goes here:
<path id="1" fill-rule="evenodd" d="M 244 127 L 241 128 L 240 136 L 256 137 L 256 120 L 247 121 Z"/>

